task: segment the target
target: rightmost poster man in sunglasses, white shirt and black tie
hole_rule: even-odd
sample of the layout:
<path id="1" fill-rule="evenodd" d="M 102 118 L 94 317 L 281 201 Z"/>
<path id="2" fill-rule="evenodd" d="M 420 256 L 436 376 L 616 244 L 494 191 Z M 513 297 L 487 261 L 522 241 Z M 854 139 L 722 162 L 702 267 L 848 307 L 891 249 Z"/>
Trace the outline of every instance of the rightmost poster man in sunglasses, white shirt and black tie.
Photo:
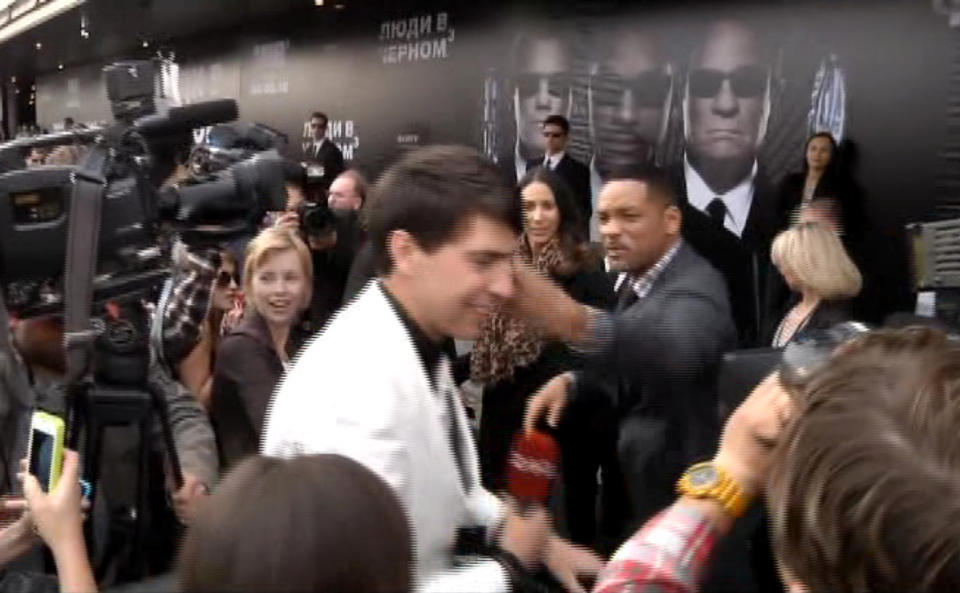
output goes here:
<path id="1" fill-rule="evenodd" d="M 717 21 L 694 50 L 683 97 L 678 195 L 684 238 L 727 280 L 743 346 L 755 345 L 776 230 L 775 189 L 757 163 L 770 117 L 772 51 L 739 21 Z"/>

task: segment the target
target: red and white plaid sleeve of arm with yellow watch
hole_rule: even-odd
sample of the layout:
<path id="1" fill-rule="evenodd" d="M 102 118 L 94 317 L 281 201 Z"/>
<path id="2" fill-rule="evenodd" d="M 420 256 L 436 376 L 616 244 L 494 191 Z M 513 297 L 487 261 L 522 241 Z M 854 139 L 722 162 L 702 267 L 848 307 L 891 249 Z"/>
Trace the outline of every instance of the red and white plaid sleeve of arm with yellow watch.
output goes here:
<path id="1" fill-rule="evenodd" d="M 617 550 L 593 593 L 693 593 L 716 541 L 706 515 L 672 506 Z"/>

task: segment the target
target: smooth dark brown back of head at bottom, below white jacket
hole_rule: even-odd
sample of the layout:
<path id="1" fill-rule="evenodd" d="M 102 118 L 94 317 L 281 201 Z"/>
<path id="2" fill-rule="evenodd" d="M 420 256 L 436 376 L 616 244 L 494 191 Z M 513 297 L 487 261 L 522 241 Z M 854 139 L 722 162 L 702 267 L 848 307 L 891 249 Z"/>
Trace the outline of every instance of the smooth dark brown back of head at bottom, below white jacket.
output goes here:
<path id="1" fill-rule="evenodd" d="M 412 542 L 391 488 L 359 463 L 252 456 L 198 509 L 180 551 L 180 588 L 407 592 Z"/>

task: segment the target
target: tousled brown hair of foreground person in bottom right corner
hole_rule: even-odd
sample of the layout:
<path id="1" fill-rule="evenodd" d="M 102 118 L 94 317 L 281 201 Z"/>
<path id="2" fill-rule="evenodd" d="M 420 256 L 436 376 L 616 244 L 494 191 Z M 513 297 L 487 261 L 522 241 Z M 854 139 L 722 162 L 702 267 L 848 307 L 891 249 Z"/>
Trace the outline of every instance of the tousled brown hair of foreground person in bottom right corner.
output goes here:
<path id="1" fill-rule="evenodd" d="M 767 484 L 793 576 L 814 593 L 960 590 L 960 345 L 868 334 L 796 397 Z"/>

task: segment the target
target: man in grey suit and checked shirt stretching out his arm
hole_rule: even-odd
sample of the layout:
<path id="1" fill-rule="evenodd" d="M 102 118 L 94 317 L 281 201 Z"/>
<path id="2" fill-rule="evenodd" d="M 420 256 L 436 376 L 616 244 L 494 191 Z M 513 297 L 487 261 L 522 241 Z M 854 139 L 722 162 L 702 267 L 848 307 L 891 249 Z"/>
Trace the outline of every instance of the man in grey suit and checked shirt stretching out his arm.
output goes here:
<path id="1" fill-rule="evenodd" d="M 680 234 L 683 215 L 668 178 L 619 174 L 598 201 L 607 260 L 619 272 L 613 314 L 581 305 L 530 270 L 517 277 L 516 308 L 585 355 L 583 371 L 548 382 L 527 407 L 527 430 L 556 425 L 567 402 L 609 405 L 630 500 L 621 529 L 670 504 L 687 464 L 719 437 L 717 372 L 736 330 L 720 275 Z M 604 488 L 622 487 L 604 482 Z"/>

